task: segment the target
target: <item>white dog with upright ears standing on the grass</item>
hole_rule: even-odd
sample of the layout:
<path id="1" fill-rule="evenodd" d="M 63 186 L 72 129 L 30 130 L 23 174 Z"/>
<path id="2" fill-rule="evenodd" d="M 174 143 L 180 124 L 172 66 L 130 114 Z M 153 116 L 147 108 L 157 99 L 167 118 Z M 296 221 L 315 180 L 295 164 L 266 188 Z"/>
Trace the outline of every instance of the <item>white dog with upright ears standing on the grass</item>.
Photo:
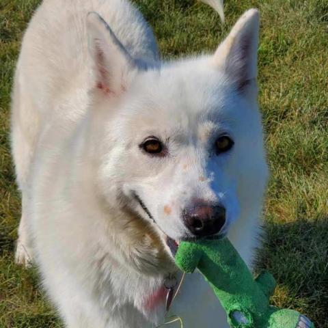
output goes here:
<path id="1" fill-rule="evenodd" d="M 127 0 L 38 8 L 12 102 L 16 260 L 38 264 L 67 327 L 156 327 L 172 315 L 227 327 L 199 273 L 169 312 L 165 298 L 180 282 L 178 241 L 228 234 L 251 265 L 267 183 L 258 29 L 249 10 L 214 54 L 163 63 Z"/>

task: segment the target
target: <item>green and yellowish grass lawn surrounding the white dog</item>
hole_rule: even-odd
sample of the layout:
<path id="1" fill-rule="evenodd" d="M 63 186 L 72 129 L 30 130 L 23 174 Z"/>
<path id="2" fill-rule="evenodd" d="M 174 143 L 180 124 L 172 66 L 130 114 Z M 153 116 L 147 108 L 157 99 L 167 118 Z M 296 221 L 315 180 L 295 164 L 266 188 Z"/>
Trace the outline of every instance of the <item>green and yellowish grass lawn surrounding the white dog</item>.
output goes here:
<path id="1" fill-rule="evenodd" d="M 13 262 L 20 199 L 10 158 L 10 90 L 20 40 L 39 0 L 0 2 L 0 328 L 61 327 L 34 269 Z M 136 0 L 165 58 L 214 51 L 236 18 L 260 9 L 260 105 L 271 182 L 258 269 L 276 305 L 328 328 L 328 2 L 227 0 L 226 25 L 193 0 Z"/>

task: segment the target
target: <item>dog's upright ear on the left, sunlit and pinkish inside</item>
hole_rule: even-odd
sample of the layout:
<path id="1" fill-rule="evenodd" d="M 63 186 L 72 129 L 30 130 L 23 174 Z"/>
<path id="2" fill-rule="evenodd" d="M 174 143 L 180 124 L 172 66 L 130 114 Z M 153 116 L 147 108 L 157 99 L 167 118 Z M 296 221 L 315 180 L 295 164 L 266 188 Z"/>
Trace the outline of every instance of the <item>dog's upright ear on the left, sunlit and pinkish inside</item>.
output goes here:
<path id="1" fill-rule="evenodd" d="M 96 12 L 87 15 L 88 47 L 92 58 L 95 87 L 118 96 L 137 70 L 134 59 Z"/>

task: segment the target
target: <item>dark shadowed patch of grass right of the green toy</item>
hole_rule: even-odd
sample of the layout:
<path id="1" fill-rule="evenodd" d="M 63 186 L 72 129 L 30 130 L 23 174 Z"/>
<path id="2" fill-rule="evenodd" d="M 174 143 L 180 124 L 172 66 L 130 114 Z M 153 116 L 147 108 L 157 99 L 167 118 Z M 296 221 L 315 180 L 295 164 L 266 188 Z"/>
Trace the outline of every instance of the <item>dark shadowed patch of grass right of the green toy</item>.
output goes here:
<path id="1" fill-rule="evenodd" d="M 267 238 L 256 260 L 277 280 L 273 303 L 308 315 L 328 328 L 328 219 L 267 222 Z"/>

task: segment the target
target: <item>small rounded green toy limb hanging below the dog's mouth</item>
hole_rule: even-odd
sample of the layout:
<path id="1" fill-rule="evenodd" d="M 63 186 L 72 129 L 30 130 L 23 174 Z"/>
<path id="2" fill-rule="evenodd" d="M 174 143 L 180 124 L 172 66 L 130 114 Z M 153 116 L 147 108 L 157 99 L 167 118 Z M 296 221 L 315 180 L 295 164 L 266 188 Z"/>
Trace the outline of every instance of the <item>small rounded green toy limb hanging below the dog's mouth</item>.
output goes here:
<path id="1" fill-rule="evenodd" d="M 197 247 L 197 243 L 182 241 L 176 252 L 176 264 L 182 271 L 193 273 L 201 257 L 202 250 Z"/>

